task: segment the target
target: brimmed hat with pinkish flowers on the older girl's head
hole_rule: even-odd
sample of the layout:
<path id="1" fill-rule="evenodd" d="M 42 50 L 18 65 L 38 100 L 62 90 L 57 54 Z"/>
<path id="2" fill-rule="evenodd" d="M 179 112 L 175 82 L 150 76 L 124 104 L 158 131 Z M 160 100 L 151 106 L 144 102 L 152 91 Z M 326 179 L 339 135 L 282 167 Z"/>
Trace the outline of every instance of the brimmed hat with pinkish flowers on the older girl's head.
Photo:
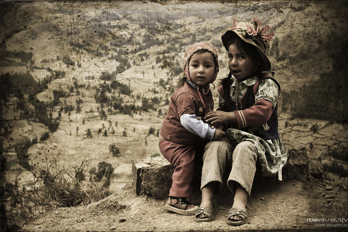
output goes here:
<path id="1" fill-rule="evenodd" d="M 269 32 L 270 27 L 265 25 L 261 28 L 262 23 L 258 21 L 255 17 L 251 23 L 239 22 L 233 20 L 233 26 L 231 30 L 226 31 L 222 35 L 222 43 L 225 49 L 228 51 L 228 43 L 238 36 L 243 41 L 254 45 L 256 50 L 261 56 L 263 62 L 263 70 L 269 71 L 271 69 L 271 64 L 269 62 L 269 41 L 273 38 L 274 32 Z"/>

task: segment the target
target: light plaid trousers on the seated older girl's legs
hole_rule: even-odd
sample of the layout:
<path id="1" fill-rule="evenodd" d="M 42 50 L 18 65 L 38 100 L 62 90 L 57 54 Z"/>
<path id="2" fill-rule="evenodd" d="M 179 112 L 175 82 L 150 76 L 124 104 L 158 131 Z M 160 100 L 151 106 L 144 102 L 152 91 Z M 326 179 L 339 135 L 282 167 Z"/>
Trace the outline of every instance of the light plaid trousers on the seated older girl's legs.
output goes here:
<path id="1" fill-rule="evenodd" d="M 221 191 L 222 177 L 226 165 L 231 165 L 227 185 L 235 194 L 234 184 L 238 182 L 249 194 L 252 190 L 256 172 L 258 153 L 252 142 L 244 141 L 234 147 L 231 140 L 224 137 L 222 141 L 211 141 L 205 146 L 201 189 L 210 182 L 218 182 L 216 193 Z"/>

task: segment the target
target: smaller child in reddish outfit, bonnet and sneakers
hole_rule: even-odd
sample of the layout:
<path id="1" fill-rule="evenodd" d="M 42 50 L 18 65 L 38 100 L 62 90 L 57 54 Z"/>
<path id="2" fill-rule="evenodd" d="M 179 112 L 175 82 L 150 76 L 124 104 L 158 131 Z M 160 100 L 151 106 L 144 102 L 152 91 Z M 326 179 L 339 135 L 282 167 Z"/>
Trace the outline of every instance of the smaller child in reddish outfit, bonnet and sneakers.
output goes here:
<path id="1" fill-rule="evenodd" d="M 218 54 L 213 45 L 202 42 L 187 47 L 184 76 L 171 97 L 159 142 L 161 153 L 174 165 L 173 184 L 165 208 L 177 214 L 194 215 L 198 208 L 186 201 L 192 195 L 197 149 L 203 151 L 207 139 L 220 140 L 224 135 L 204 121 L 214 105 L 209 83 L 218 72 Z"/>

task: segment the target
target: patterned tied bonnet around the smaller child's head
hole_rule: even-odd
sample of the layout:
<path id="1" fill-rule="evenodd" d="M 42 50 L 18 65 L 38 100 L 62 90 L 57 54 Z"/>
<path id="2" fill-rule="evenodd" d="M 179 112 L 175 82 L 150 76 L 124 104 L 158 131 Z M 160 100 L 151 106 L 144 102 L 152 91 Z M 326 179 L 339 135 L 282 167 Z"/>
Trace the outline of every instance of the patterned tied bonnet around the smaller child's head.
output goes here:
<path id="1" fill-rule="evenodd" d="M 214 56 L 215 64 L 216 64 L 215 73 L 214 73 L 213 78 L 209 82 L 209 83 L 212 83 L 216 79 L 217 73 L 219 72 L 219 58 L 218 58 L 216 48 L 208 42 L 195 43 L 192 45 L 188 45 L 186 47 L 185 55 L 184 55 L 185 56 L 185 64 L 183 66 L 183 73 L 189 80 L 191 80 L 191 77 L 190 77 L 189 72 L 188 72 L 188 62 L 190 61 L 190 58 L 193 55 L 193 53 L 197 52 L 198 50 L 207 50 L 207 51 L 211 52 L 211 54 L 213 54 L 213 56 Z"/>

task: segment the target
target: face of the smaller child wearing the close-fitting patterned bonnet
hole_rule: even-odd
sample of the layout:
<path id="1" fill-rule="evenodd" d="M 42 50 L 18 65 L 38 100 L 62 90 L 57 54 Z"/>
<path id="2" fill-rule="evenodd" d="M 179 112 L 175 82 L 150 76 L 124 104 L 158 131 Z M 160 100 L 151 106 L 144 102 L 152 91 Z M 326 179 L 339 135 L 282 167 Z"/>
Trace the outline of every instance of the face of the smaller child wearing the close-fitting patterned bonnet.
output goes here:
<path id="1" fill-rule="evenodd" d="M 206 85 L 214 77 L 215 61 L 210 52 L 194 53 L 188 63 L 188 72 L 191 81 L 197 85 Z"/>

